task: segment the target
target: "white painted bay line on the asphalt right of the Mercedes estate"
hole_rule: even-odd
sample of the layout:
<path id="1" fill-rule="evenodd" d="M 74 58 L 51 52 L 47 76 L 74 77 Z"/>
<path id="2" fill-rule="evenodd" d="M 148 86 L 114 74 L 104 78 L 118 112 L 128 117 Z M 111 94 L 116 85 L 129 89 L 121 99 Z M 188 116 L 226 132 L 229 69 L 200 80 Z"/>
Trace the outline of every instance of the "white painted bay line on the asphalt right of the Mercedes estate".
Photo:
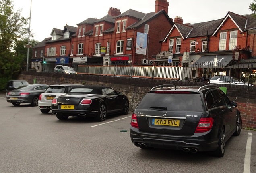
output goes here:
<path id="1" fill-rule="evenodd" d="M 246 153 L 244 156 L 244 173 L 251 172 L 251 146 L 252 146 L 252 133 L 248 133 Z"/>

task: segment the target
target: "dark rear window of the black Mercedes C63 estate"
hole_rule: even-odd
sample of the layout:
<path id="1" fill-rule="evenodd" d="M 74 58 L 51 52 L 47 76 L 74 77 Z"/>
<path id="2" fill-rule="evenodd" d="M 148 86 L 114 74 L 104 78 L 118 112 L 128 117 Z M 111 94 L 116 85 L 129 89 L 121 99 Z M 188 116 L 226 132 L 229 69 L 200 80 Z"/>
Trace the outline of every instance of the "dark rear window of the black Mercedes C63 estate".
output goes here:
<path id="1" fill-rule="evenodd" d="M 150 107 L 167 107 L 168 111 L 202 111 L 202 100 L 199 93 L 147 93 L 137 108 L 153 109 Z"/>

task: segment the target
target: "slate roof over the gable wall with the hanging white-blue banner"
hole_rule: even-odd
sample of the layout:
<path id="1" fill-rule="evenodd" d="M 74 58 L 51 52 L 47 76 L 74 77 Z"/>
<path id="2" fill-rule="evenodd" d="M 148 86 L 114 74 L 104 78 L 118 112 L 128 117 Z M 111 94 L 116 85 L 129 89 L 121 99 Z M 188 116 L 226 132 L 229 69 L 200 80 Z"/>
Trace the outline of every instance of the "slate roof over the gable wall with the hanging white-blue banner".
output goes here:
<path id="1" fill-rule="evenodd" d="M 165 16 L 169 19 L 169 21 L 170 21 L 171 24 L 173 25 L 173 22 L 171 21 L 171 19 L 169 18 L 168 14 L 165 12 L 165 10 L 161 10 L 161 11 L 159 11 L 159 12 L 157 12 L 157 13 L 151 12 L 151 13 L 145 14 L 145 15 L 143 16 L 143 18 L 142 18 L 140 21 L 138 21 L 138 22 L 136 22 L 136 23 L 134 23 L 134 24 L 128 26 L 127 29 L 137 28 L 137 27 L 141 26 L 142 24 L 145 24 L 145 23 L 148 22 L 149 20 L 151 20 L 151 19 L 157 17 L 158 15 L 160 15 L 160 14 L 162 14 L 162 13 L 165 14 Z"/>

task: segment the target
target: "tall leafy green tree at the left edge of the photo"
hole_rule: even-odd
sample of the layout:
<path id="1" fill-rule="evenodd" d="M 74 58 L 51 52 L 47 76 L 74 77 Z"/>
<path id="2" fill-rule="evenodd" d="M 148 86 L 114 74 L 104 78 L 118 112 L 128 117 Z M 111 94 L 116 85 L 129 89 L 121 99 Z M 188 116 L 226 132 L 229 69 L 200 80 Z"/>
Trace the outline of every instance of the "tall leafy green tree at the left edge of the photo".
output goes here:
<path id="1" fill-rule="evenodd" d="M 0 77 L 13 77 L 21 68 L 14 48 L 26 33 L 27 20 L 21 11 L 14 12 L 11 0 L 0 0 Z"/>

